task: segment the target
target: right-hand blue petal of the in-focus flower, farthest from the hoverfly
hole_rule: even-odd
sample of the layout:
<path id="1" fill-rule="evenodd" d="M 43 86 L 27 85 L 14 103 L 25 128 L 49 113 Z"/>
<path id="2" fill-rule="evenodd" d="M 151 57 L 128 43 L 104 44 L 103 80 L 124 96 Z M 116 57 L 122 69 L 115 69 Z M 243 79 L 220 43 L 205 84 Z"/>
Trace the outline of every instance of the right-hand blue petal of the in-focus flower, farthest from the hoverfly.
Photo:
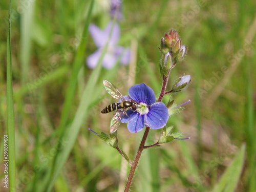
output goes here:
<path id="1" fill-rule="evenodd" d="M 156 102 L 150 106 L 145 117 L 145 124 L 151 129 L 161 129 L 169 119 L 168 109 L 162 102 Z"/>

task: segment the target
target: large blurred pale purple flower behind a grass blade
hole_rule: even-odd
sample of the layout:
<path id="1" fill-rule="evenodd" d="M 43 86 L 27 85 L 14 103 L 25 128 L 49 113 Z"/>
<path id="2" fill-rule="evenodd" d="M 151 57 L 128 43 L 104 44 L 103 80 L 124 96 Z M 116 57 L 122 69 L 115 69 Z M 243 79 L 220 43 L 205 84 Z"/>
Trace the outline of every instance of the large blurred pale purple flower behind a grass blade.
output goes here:
<path id="1" fill-rule="evenodd" d="M 89 26 L 89 31 L 93 37 L 93 40 L 98 48 L 93 54 L 87 58 L 87 65 L 89 68 L 94 69 L 100 58 L 103 47 L 108 41 L 111 32 L 112 22 L 110 22 L 104 30 L 99 29 L 96 25 L 91 24 Z M 102 60 L 102 66 L 106 69 L 111 69 L 114 67 L 115 63 L 120 57 L 120 62 L 122 65 L 127 65 L 130 61 L 130 49 L 117 46 L 117 42 L 120 37 L 120 29 L 118 24 L 115 24 L 111 37 L 109 39 L 108 49 L 105 52 Z"/>

